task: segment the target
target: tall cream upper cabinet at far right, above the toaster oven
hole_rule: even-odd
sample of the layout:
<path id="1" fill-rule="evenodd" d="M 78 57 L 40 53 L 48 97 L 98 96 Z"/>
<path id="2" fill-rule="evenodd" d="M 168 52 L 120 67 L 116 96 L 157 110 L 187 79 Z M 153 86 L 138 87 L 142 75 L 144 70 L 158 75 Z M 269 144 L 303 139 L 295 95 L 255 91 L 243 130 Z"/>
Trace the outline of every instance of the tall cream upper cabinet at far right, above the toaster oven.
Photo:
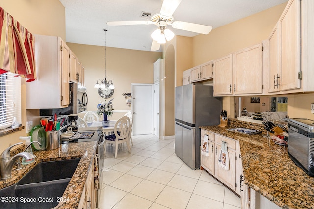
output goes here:
<path id="1" fill-rule="evenodd" d="M 270 34 L 270 94 L 314 91 L 313 7 L 314 1 L 289 0 Z"/>

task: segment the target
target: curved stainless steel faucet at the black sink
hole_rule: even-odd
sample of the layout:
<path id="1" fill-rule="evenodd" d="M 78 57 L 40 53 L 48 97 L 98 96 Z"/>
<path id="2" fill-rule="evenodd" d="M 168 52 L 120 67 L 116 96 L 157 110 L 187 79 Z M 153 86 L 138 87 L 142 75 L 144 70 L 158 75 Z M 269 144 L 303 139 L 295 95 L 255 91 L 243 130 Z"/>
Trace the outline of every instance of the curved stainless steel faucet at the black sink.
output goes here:
<path id="1" fill-rule="evenodd" d="M 12 149 L 12 147 L 19 145 L 19 144 L 23 144 L 23 142 L 14 144 L 8 148 L 6 148 L 6 150 L 4 150 L 1 155 L 0 155 L 0 176 L 1 176 L 1 180 L 6 180 L 11 178 L 11 171 L 12 171 L 12 167 L 14 165 L 15 160 L 17 160 L 19 157 L 25 157 L 27 160 L 29 159 L 33 159 L 36 156 L 34 156 L 31 153 L 28 152 L 21 152 L 16 154 L 15 156 L 13 156 L 10 159 L 10 150 Z"/>

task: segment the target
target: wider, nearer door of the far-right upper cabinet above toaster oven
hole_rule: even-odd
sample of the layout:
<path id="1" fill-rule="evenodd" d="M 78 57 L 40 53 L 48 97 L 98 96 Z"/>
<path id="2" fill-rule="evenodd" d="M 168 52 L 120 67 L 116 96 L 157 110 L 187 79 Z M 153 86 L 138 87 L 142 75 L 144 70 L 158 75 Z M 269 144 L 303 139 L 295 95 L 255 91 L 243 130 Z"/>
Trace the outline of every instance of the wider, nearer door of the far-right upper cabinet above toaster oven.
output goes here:
<path id="1" fill-rule="evenodd" d="M 301 87 L 301 1 L 290 0 L 279 19 L 280 91 Z"/>

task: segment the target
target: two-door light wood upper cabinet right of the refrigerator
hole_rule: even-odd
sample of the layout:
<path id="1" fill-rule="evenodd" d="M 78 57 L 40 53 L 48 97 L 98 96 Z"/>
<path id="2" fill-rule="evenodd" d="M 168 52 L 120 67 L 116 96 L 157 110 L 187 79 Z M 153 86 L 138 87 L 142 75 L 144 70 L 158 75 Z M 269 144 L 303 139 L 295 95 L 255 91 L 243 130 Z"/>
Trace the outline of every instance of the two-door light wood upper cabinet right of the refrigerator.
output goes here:
<path id="1" fill-rule="evenodd" d="M 262 94 L 262 43 L 214 60 L 214 95 Z"/>

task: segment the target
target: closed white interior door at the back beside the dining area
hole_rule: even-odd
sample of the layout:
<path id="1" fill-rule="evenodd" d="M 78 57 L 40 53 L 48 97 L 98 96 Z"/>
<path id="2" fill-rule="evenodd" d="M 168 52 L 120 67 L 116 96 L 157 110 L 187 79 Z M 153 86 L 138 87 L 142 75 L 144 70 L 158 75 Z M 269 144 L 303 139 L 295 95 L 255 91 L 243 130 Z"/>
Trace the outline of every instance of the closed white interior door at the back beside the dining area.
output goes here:
<path id="1" fill-rule="evenodd" d="M 131 84 L 133 135 L 153 133 L 153 84 Z"/>

